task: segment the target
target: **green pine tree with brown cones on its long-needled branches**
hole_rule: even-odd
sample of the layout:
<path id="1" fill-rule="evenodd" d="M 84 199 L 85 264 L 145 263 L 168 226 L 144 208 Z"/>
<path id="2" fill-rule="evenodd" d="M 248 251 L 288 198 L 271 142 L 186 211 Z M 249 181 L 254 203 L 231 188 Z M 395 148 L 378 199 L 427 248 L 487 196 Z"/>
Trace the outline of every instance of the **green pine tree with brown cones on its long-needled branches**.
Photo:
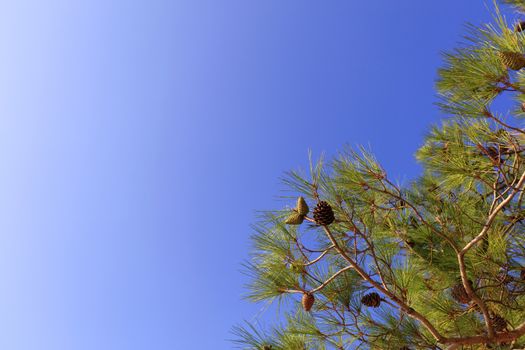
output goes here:
<path id="1" fill-rule="evenodd" d="M 525 0 L 503 3 L 525 12 Z M 235 328 L 237 345 L 525 347 L 525 17 L 513 13 L 496 6 L 445 54 L 446 119 L 417 152 L 417 179 L 397 185 L 365 149 L 287 174 L 289 205 L 315 209 L 265 214 L 246 267 L 251 300 L 290 307 L 281 326 Z"/>

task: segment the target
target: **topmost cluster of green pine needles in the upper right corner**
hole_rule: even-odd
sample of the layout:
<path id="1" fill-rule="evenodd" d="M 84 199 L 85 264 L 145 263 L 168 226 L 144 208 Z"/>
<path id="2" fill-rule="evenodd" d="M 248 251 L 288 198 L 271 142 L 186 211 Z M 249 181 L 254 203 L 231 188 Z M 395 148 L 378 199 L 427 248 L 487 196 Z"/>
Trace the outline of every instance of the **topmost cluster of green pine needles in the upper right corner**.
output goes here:
<path id="1" fill-rule="evenodd" d="M 502 64 L 501 52 L 525 52 L 525 33 L 514 32 L 496 11 L 495 24 L 468 26 L 465 44 L 444 54 L 437 89 L 439 106 L 457 116 L 486 117 L 486 107 L 500 94 L 520 92 L 522 85 Z M 523 73 L 518 73 L 520 76 Z"/>

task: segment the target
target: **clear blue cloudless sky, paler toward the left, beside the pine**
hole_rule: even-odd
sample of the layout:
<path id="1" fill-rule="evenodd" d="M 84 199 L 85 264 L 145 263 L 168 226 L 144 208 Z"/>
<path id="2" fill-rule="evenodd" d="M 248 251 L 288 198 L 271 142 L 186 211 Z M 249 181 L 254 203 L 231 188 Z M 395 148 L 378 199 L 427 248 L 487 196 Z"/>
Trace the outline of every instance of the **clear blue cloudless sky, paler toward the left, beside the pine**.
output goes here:
<path id="1" fill-rule="evenodd" d="M 489 2 L 490 3 L 490 2 Z M 231 349 L 307 150 L 398 179 L 481 0 L 0 2 L 0 349 Z M 293 203 L 292 203 L 293 204 Z M 271 318 L 271 317 L 270 317 Z"/>

